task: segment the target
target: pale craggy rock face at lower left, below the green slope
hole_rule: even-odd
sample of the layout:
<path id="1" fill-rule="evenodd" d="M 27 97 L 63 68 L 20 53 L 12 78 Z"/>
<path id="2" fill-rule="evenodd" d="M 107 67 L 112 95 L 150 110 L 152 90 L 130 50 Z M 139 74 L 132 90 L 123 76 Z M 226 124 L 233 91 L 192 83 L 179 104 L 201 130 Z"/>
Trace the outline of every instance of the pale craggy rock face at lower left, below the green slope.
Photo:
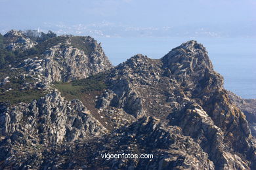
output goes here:
<path id="1" fill-rule="evenodd" d="M 2 109 L 0 127 L 1 136 L 25 146 L 62 144 L 107 131 L 81 101 L 68 102 L 57 91 L 32 103 Z"/>

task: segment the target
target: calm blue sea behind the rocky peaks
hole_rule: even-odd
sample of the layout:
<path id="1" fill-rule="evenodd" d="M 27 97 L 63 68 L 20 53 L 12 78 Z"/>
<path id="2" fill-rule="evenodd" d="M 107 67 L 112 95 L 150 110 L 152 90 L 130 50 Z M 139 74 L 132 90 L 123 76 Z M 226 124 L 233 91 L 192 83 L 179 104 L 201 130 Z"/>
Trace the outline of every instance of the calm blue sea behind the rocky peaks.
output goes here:
<path id="1" fill-rule="evenodd" d="M 196 40 L 207 49 L 215 71 L 223 75 L 224 88 L 244 99 L 256 99 L 256 39 L 253 38 L 156 38 L 95 37 L 114 65 L 144 54 L 161 58 L 172 48 Z"/>

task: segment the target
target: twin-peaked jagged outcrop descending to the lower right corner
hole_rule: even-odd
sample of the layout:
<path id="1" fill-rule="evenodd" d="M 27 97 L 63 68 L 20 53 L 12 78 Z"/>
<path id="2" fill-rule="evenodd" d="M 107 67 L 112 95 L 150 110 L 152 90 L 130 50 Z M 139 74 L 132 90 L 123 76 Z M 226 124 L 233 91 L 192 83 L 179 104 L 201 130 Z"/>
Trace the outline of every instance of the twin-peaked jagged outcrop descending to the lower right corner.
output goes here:
<path id="1" fill-rule="evenodd" d="M 215 169 L 255 166 L 247 120 L 228 99 L 223 77 L 213 70 L 202 44 L 188 41 L 161 59 L 134 56 L 118 65 L 107 82 L 112 86 L 100 96 L 100 107 L 123 108 L 137 117 L 143 110 L 143 115 L 181 127 L 209 154 Z M 136 101 L 139 107 L 126 107 Z"/>

